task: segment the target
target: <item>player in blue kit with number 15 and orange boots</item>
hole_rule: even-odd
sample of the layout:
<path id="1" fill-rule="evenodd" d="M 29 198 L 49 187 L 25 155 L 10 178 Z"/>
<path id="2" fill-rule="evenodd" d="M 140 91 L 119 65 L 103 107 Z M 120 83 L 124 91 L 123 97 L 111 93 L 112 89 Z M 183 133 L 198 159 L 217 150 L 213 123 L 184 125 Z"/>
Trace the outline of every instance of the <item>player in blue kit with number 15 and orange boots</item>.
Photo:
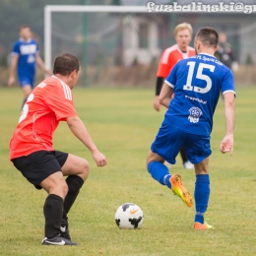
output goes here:
<path id="1" fill-rule="evenodd" d="M 160 103 L 168 109 L 147 160 L 152 177 L 192 207 L 192 197 L 184 188 L 180 175 L 171 175 L 163 164 L 164 160 L 174 164 L 180 148 L 185 147 L 196 174 L 195 229 L 213 228 L 204 221 L 204 214 L 210 196 L 210 134 L 220 91 L 224 95 L 226 126 L 220 150 L 230 155 L 233 151 L 234 80 L 230 69 L 214 56 L 218 40 L 218 32 L 214 29 L 201 29 L 194 41 L 197 55 L 180 60 L 165 80 Z"/>

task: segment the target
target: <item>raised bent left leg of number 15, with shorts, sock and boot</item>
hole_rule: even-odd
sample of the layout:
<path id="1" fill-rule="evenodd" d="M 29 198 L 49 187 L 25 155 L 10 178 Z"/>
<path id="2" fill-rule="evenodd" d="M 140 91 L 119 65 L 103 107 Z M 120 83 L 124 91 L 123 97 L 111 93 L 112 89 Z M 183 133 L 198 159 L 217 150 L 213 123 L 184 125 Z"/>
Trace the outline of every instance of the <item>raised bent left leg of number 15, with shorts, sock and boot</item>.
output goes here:
<path id="1" fill-rule="evenodd" d="M 191 207 L 193 205 L 191 195 L 183 187 L 180 175 L 171 175 L 163 164 L 164 160 L 175 163 L 175 158 L 183 144 L 183 137 L 183 132 L 169 129 L 168 124 L 163 122 L 148 155 L 147 167 L 154 179 L 170 188 L 187 206 Z"/>

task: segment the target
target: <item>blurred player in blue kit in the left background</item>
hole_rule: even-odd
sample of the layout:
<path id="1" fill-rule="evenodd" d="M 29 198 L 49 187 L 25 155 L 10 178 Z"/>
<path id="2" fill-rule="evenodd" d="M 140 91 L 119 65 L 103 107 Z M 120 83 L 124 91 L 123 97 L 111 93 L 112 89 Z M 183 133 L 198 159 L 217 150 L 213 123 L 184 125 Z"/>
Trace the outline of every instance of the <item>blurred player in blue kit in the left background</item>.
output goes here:
<path id="1" fill-rule="evenodd" d="M 30 27 L 27 25 L 21 26 L 20 36 L 20 39 L 15 42 L 12 50 L 12 61 L 8 86 L 10 87 L 14 84 L 15 72 L 17 69 L 18 80 L 23 89 L 25 102 L 27 97 L 30 96 L 32 92 L 36 73 L 36 63 L 46 74 L 51 75 L 51 71 L 48 71 L 45 68 L 44 63 L 38 54 L 38 45 L 36 41 L 32 39 Z"/>

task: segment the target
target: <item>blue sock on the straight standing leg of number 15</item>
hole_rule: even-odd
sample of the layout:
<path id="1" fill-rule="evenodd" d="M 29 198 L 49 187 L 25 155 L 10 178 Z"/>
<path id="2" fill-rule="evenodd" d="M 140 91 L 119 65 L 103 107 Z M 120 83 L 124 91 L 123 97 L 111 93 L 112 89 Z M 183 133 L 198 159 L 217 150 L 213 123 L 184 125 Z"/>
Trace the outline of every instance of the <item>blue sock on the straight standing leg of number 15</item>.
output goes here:
<path id="1" fill-rule="evenodd" d="M 196 203 L 196 215 L 195 223 L 204 224 L 204 213 L 208 207 L 208 201 L 210 196 L 210 178 L 209 174 L 196 175 L 195 185 L 195 203 Z"/>

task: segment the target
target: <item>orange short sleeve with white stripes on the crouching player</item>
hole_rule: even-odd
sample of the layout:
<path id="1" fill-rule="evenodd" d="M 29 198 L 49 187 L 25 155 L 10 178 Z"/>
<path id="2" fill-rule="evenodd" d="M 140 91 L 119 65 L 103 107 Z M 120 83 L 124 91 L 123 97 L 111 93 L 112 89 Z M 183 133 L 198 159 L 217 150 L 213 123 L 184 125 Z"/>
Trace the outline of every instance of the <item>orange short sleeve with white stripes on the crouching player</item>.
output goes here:
<path id="1" fill-rule="evenodd" d="M 78 116 L 72 91 L 67 85 L 49 86 L 45 102 L 55 113 L 58 121 L 66 121 L 68 117 Z"/>

